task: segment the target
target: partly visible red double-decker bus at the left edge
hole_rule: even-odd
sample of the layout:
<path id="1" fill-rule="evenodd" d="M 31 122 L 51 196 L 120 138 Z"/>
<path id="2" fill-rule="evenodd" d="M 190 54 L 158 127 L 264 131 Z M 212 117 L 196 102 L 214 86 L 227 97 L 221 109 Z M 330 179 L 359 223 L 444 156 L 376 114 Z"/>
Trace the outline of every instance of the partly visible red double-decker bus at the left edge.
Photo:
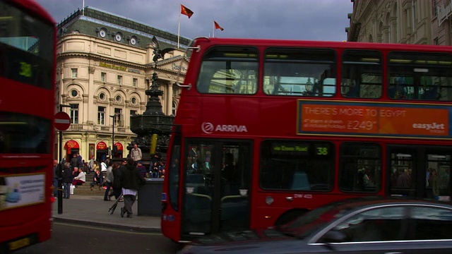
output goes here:
<path id="1" fill-rule="evenodd" d="M 50 238 L 55 35 L 35 1 L 0 1 L 0 253 Z"/>

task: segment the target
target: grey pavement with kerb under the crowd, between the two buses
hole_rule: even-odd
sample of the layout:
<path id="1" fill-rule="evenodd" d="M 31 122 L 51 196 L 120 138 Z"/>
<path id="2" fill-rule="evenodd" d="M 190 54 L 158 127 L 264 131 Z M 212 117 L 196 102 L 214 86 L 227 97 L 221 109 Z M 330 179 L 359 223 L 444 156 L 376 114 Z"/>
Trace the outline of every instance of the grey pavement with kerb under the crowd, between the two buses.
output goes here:
<path id="1" fill-rule="evenodd" d="M 121 217 L 121 207 L 124 202 L 118 202 L 113 214 L 108 210 L 114 204 L 112 200 L 105 201 L 104 195 L 73 194 L 69 199 L 62 199 L 62 213 L 58 214 L 58 198 L 52 204 L 52 217 L 54 222 L 67 222 L 85 224 L 90 226 L 102 226 L 113 229 L 126 229 L 132 231 L 160 232 L 160 217 L 138 216 L 138 202 L 133 204 L 133 217 Z M 156 204 L 160 206 L 159 204 Z"/>

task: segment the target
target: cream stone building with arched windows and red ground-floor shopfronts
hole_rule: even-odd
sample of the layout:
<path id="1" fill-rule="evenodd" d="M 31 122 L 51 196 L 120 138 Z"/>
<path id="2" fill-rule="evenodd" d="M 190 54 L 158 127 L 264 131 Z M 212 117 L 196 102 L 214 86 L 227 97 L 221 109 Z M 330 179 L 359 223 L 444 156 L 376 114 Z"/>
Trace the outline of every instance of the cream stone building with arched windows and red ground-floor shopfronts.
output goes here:
<path id="1" fill-rule="evenodd" d="M 62 154 L 70 158 L 79 152 L 85 160 L 100 160 L 116 145 L 114 157 L 126 157 L 126 147 L 136 137 L 130 116 L 145 111 L 145 90 L 154 72 L 163 91 L 162 111 L 175 114 L 181 91 L 175 83 L 184 80 L 190 40 L 91 7 L 76 11 L 57 28 L 55 110 L 59 104 L 69 105 L 62 109 L 71 116 L 61 140 Z M 153 36 L 160 49 L 174 49 L 156 62 Z M 57 133 L 55 137 L 57 153 Z"/>

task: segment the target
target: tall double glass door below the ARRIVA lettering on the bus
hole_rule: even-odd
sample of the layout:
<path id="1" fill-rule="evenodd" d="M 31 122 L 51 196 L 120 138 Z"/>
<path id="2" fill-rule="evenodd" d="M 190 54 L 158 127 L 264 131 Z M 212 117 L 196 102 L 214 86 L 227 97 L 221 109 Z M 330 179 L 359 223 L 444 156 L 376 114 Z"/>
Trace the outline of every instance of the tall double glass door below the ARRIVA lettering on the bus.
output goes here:
<path id="1" fill-rule="evenodd" d="M 182 234 L 201 236 L 249 228 L 252 143 L 186 143 Z"/>

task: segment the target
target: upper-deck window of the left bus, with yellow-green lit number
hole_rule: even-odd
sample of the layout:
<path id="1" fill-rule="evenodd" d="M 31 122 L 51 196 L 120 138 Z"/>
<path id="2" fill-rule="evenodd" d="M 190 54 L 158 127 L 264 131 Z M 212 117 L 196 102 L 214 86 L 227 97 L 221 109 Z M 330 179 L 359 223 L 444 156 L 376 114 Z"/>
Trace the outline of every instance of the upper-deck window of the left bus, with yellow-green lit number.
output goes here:
<path id="1" fill-rule="evenodd" d="M 0 76 L 52 89 L 54 26 L 0 2 Z"/>

